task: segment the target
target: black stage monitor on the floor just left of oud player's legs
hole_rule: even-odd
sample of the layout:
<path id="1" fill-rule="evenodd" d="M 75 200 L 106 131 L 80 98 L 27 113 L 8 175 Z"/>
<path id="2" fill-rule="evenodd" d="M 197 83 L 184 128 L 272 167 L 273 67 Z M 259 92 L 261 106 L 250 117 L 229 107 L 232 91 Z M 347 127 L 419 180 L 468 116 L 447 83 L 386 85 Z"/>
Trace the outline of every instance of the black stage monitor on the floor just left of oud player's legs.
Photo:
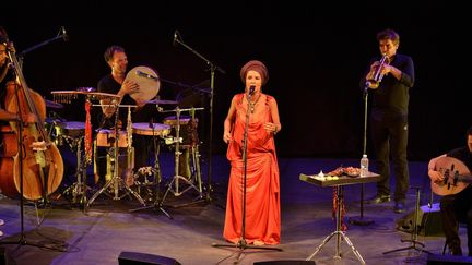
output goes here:
<path id="1" fill-rule="evenodd" d="M 412 233 L 414 231 L 414 210 L 406 214 L 397 221 L 397 229 L 403 232 Z M 442 220 L 440 218 L 439 203 L 423 205 L 420 207 L 417 216 L 418 234 L 423 237 L 442 237 Z"/>

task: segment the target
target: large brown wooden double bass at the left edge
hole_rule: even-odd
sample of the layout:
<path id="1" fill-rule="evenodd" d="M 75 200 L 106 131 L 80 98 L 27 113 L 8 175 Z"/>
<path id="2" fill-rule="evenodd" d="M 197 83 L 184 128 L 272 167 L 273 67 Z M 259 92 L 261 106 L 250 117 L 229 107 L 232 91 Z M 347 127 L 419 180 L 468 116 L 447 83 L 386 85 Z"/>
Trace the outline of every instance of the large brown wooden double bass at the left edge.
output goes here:
<path id="1" fill-rule="evenodd" d="M 3 157 L 0 158 L 0 189 L 12 198 L 23 191 L 24 198 L 37 201 L 59 188 L 63 178 L 63 160 L 44 127 L 45 100 L 28 88 L 14 49 L 7 48 L 16 82 L 7 84 L 5 109 L 20 113 L 20 117 L 34 113 L 37 119 L 30 124 L 11 121 L 1 128 Z"/>

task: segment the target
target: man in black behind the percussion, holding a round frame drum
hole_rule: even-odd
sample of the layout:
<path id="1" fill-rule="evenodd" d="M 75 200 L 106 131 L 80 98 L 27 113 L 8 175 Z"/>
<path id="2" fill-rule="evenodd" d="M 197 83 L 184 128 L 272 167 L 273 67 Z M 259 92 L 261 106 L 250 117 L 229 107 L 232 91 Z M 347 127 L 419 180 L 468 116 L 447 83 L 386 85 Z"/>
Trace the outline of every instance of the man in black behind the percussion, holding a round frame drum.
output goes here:
<path id="1" fill-rule="evenodd" d="M 110 46 L 105 50 L 104 57 L 106 63 L 110 67 L 111 72 L 99 80 L 97 86 L 98 92 L 118 95 L 119 100 L 103 99 L 101 100 L 101 104 L 138 106 L 138 108 L 132 109 L 132 122 L 150 122 L 153 113 L 151 109 L 152 106 L 145 105 L 145 103 L 137 103 L 130 97 L 130 94 L 137 93 L 140 89 L 140 86 L 135 82 L 126 80 L 128 58 L 125 48 L 120 46 Z M 116 100 L 116 103 L 113 103 L 113 100 Z M 116 108 L 113 106 L 103 106 L 102 110 L 104 118 L 101 122 L 101 128 L 114 129 Z M 118 117 L 119 129 L 123 128 L 126 130 L 128 108 L 119 108 Z M 148 138 L 142 135 L 133 135 L 132 143 L 134 147 L 134 169 L 149 166 L 149 152 L 151 144 L 148 143 Z"/>

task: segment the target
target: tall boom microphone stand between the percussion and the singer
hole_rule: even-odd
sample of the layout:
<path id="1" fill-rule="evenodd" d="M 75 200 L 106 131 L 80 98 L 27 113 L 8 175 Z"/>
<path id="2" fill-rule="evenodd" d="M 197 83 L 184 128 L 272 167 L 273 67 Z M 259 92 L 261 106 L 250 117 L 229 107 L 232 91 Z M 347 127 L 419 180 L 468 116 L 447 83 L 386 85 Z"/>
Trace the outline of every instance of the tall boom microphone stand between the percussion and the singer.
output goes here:
<path id="1" fill-rule="evenodd" d="M 203 61 L 206 62 L 208 65 L 210 65 L 210 132 L 209 132 L 209 147 L 208 147 L 208 179 L 206 179 L 206 202 L 211 202 L 212 197 L 211 197 L 211 193 L 213 192 L 213 186 L 211 183 L 211 176 L 212 176 L 212 142 L 213 142 L 213 96 L 214 96 L 214 76 L 215 76 L 215 71 L 217 70 L 220 73 L 225 74 L 226 72 L 221 69 L 220 67 L 217 67 L 216 64 L 214 64 L 213 62 L 211 62 L 210 60 L 208 60 L 206 58 L 204 58 L 202 55 L 200 55 L 199 52 L 197 52 L 196 50 L 193 50 L 192 48 L 190 48 L 188 45 L 186 45 L 181 37 L 180 34 L 176 33 L 174 34 L 174 45 L 176 44 L 180 44 L 181 46 L 184 46 L 185 48 L 187 48 L 188 50 L 190 50 L 191 52 L 193 52 L 196 56 L 198 56 L 200 59 L 202 59 Z"/>

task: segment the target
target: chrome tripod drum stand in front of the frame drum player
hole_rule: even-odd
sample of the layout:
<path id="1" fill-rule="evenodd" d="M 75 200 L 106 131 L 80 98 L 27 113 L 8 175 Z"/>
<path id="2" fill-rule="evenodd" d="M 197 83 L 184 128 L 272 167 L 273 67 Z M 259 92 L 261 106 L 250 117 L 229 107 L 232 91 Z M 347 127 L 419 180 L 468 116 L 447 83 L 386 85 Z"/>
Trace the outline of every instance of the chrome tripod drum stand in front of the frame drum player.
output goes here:
<path id="1" fill-rule="evenodd" d="M 129 106 L 128 106 L 129 107 Z M 90 205 L 95 201 L 95 198 L 98 197 L 98 195 L 101 195 L 103 192 L 105 192 L 108 188 L 113 188 L 113 192 L 114 192 L 114 196 L 110 196 L 108 193 L 106 193 L 108 196 L 110 196 L 113 200 L 121 200 L 126 195 L 128 195 L 129 193 L 131 193 L 142 205 L 145 206 L 145 202 L 144 200 L 138 194 L 135 193 L 133 190 L 131 190 L 127 183 L 125 183 L 125 181 L 122 180 L 122 178 L 118 174 L 118 141 L 119 141 L 119 131 L 118 131 L 118 113 L 119 113 L 119 108 L 118 106 L 115 107 L 116 108 L 116 112 L 115 112 L 115 142 L 114 142 L 114 149 L 113 149 L 113 156 L 110 159 L 110 164 L 111 164 L 111 176 L 113 178 L 110 180 L 108 180 L 108 182 L 105 183 L 105 185 L 98 190 L 88 201 L 87 203 L 87 207 L 90 207 Z M 128 111 L 128 123 L 130 123 L 130 117 L 131 117 L 131 109 L 129 108 Z M 127 130 L 132 130 L 131 128 L 129 128 L 129 124 L 127 127 Z M 131 142 L 128 143 L 129 145 L 131 145 Z M 119 196 L 119 191 L 120 188 L 125 188 L 127 190 L 127 192 L 125 194 L 122 194 L 121 196 Z"/>

